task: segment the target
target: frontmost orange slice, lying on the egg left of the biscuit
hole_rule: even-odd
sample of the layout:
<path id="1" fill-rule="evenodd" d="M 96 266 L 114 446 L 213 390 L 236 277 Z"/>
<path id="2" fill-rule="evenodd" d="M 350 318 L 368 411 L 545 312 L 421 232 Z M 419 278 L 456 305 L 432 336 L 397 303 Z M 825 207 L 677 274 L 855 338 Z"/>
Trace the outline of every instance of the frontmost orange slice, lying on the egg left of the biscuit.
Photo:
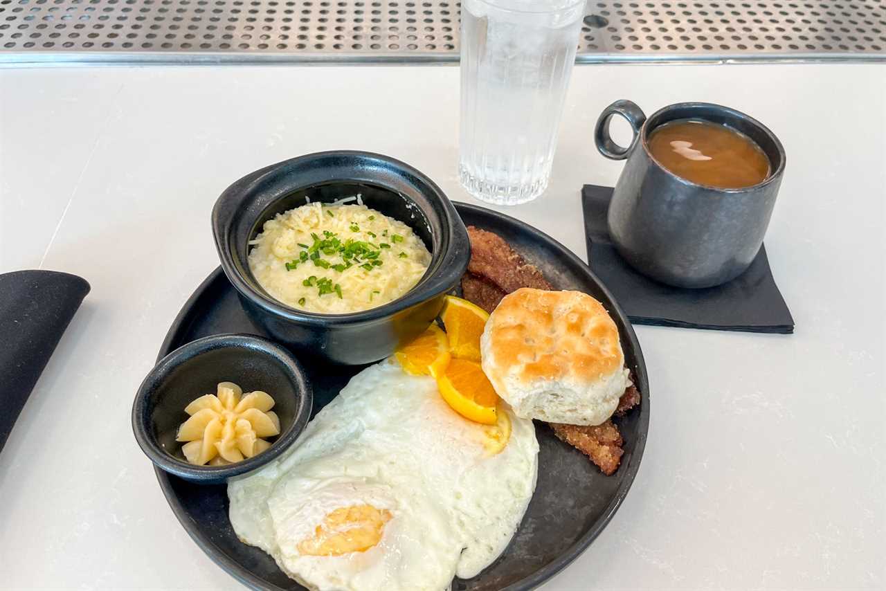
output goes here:
<path id="1" fill-rule="evenodd" d="M 495 393 L 480 364 L 453 359 L 437 375 L 437 387 L 447 404 L 459 415 L 482 424 L 496 424 Z"/>

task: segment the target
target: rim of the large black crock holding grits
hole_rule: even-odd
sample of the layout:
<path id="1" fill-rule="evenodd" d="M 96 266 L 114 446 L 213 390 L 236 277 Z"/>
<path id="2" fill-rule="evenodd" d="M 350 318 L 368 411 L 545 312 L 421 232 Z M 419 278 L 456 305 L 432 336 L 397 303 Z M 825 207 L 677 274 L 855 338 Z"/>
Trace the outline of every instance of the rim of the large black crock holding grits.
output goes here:
<path id="1" fill-rule="evenodd" d="M 431 252 L 431 261 L 428 264 L 428 268 L 425 270 L 424 275 L 421 277 L 421 279 L 418 280 L 418 283 L 413 285 L 412 288 L 408 290 L 408 292 L 404 293 L 399 298 L 392 299 L 392 301 L 389 301 L 381 306 L 370 307 L 359 312 L 348 312 L 345 314 L 321 314 L 315 312 L 307 312 L 294 307 L 286 306 L 284 303 L 272 298 L 269 294 L 263 293 L 259 289 L 256 289 L 256 285 L 258 285 L 258 282 L 255 281 L 252 277 L 244 276 L 244 274 L 240 272 L 240 269 L 237 267 L 237 265 L 233 264 L 235 260 L 240 259 L 239 255 L 232 252 L 233 249 L 231 248 L 229 241 L 229 233 L 233 224 L 233 216 L 225 216 L 222 213 L 222 209 L 225 206 L 229 206 L 230 202 L 234 200 L 240 201 L 241 203 L 239 204 L 239 206 L 242 207 L 242 202 L 245 200 L 245 198 L 247 198 L 255 191 L 260 191 L 260 186 L 263 183 L 266 183 L 268 181 L 268 178 L 278 175 L 280 169 L 283 167 L 289 167 L 295 164 L 304 165 L 312 163 L 313 161 L 322 161 L 323 159 L 330 159 L 334 157 L 347 157 L 352 159 L 381 163 L 388 167 L 397 169 L 400 175 L 415 179 L 416 184 L 424 185 L 427 190 L 424 191 L 425 197 L 430 198 L 431 200 L 436 200 L 440 204 L 440 209 L 443 213 L 439 220 L 442 232 L 440 236 L 439 252 Z M 372 184 L 373 182 L 364 178 L 340 177 L 330 179 L 328 182 L 324 182 L 323 184 L 334 183 Z M 289 192 L 274 198 L 268 204 L 268 206 L 265 206 L 261 210 L 261 213 L 267 211 L 268 207 L 272 206 L 279 199 L 285 198 L 292 191 L 299 191 L 300 189 L 307 189 L 313 186 L 319 186 L 319 184 L 321 183 L 295 185 L 291 188 Z M 376 183 L 376 186 L 387 191 L 391 191 L 392 193 L 398 194 L 402 198 L 408 199 L 414 206 L 418 207 L 423 212 L 423 214 L 427 214 L 424 211 L 424 208 L 416 203 L 414 199 L 408 197 L 408 195 L 404 195 L 400 191 L 387 188 L 382 183 Z M 424 175 L 424 173 L 422 173 L 415 167 L 412 167 L 399 159 L 394 159 L 390 156 L 385 156 L 384 154 L 379 154 L 376 152 L 364 152 L 360 150 L 329 150 L 324 152 L 312 152 L 309 154 L 304 154 L 302 156 L 297 156 L 295 158 L 285 159 L 280 162 L 276 162 L 275 164 L 271 164 L 268 167 L 260 168 L 259 170 L 256 170 L 248 175 L 241 177 L 239 180 L 232 183 L 227 189 L 222 191 L 221 196 L 216 200 L 213 207 L 212 222 L 215 247 L 219 255 L 221 268 L 224 271 L 225 276 L 228 277 L 229 282 L 234 286 L 237 292 L 246 299 L 249 299 L 249 301 L 252 302 L 255 306 L 260 307 L 264 312 L 282 317 L 294 323 L 300 323 L 315 327 L 326 327 L 330 325 L 344 326 L 355 323 L 371 323 L 389 318 L 402 310 L 421 304 L 424 301 L 427 301 L 428 299 L 439 295 L 440 293 L 447 292 L 451 288 L 451 284 L 453 283 L 452 281 L 450 281 L 450 278 L 462 276 L 467 269 L 468 261 L 470 260 L 470 240 L 468 238 L 467 229 L 464 227 L 464 223 L 462 222 L 461 217 L 455 211 L 455 206 L 453 206 L 452 201 L 447 197 L 446 193 L 443 192 L 443 190 L 439 188 L 437 183 L 434 183 L 429 176 Z M 465 250 L 463 256 L 461 257 L 461 262 L 457 260 L 457 257 L 455 256 L 457 253 L 454 253 L 453 249 L 453 245 L 457 245 L 457 242 L 460 239 L 465 245 Z M 248 267 L 248 261 L 244 260 L 241 262 Z"/>

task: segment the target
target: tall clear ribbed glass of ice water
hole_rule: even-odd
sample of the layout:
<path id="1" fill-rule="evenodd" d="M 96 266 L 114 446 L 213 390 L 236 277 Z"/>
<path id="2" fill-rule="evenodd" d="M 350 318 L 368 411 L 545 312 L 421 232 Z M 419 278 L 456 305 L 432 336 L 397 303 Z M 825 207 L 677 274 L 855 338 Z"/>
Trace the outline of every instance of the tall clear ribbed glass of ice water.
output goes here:
<path id="1" fill-rule="evenodd" d="M 458 174 L 517 205 L 548 188 L 585 0 L 462 0 Z"/>

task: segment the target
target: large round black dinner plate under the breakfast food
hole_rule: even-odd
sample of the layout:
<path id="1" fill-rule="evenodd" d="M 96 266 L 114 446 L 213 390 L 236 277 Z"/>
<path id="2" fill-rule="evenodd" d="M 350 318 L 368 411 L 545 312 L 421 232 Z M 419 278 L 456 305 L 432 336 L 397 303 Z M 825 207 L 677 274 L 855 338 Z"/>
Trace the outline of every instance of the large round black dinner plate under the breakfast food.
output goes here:
<path id="1" fill-rule="evenodd" d="M 538 267 L 556 289 L 578 290 L 599 299 L 618 324 L 625 362 L 633 371 L 642 400 L 627 416 L 614 419 L 625 439 L 618 471 L 603 476 L 578 450 L 556 439 L 536 422 L 539 477 L 529 509 L 513 540 L 499 558 L 473 579 L 455 579 L 453 590 L 531 589 L 571 563 L 602 532 L 625 499 L 640 466 L 649 428 L 649 382 L 640 344 L 631 323 L 587 265 L 537 229 L 478 206 L 455 204 L 465 225 L 499 234 Z M 216 268 L 184 305 L 169 329 L 159 357 L 196 338 L 222 332 L 263 333 L 246 318 L 234 288 Z M 314 386 L 314 413 L 365 366 L 319 366 L 307 372 Z M 200 548 L 248 587 L 302 589 L 278 568 L 274 559 L 247 546 L 228 519 L 227 486 L 190 483 L 155 469 L 175 517 Z M 590 581 L 588 586 L 590 586 Z"/>

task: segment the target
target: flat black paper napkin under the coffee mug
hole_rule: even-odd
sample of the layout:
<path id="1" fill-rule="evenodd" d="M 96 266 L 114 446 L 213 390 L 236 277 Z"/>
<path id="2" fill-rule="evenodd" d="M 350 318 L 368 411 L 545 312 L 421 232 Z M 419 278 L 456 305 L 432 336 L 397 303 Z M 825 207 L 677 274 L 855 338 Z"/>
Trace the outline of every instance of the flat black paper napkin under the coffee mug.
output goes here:
<path id="1" fill-rule="evenodd" d="M 610 198 L 611 187 L 587 184 L 581 190 L 587 258 L 591 270 L 632 323 L 782 334 L 794 331 L 794 319 L 775 285 L 766 247 L 760 247 L 748 270 L 727 284 L 704 289 L 661 284 L 635 271 L 612 245 L 606 229 Z"/>

